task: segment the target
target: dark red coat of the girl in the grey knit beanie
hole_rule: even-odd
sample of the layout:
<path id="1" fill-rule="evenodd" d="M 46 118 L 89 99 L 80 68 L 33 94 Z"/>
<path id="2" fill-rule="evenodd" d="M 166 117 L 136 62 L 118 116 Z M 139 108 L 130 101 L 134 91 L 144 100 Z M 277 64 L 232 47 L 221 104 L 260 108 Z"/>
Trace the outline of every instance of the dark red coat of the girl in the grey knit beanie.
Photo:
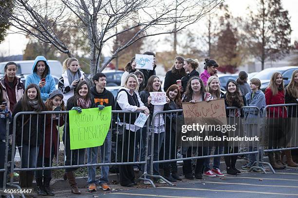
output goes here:
<path id="1" fill-rule="evenodd" d="M 52 122 L 51 114 L 46 115 L 46 126 L 45 126 L 45 135 L 44 135 L 44 157 L 46 158 L 51 157 L 51 145 L 52 145 L 52 150 L 55 151 L 54 154 L 57 157 L 57 151 L 59 150 L 59 145 L 60 145 L 59 131 L 57 129 L 57 126 L 62 127 L 63 125 L 64 125 L 64 115 L 60 114 L 59 126 L 58 126 L 58 120 L 53 119 L 53 122 Z M 51 129 L 52 129 L 52 135 L 51 135 Z M 51 142 L 51 138 L 52 138 L 52 142 Z M 39 146 L 38 155 L 42 156 L 42 154 L 43 154 L 43 142 Z"/>

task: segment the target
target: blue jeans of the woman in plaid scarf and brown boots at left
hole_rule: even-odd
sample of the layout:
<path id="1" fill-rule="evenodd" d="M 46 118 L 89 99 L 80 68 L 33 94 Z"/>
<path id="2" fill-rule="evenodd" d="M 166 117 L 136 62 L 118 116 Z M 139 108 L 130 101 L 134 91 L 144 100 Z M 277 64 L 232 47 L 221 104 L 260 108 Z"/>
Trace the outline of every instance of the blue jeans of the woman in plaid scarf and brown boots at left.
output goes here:
<path id="1" fill-rule="evenodd" d="M 37 155 L 39 152 L 39 146 L 30 146 L 23 144 L 19 148 L 19 153 L 21 154 L 22 168 L 35 168 L 37 164 Z M 29 166 L 28 166 L 29 165 Z"/>

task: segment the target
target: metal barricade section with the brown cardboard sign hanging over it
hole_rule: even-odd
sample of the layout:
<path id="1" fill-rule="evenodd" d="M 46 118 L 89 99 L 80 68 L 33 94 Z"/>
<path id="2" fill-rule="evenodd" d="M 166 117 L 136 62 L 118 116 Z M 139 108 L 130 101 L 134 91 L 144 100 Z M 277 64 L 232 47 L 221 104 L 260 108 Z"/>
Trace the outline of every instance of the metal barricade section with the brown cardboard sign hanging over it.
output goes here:
<path id="1" fill-rule="evenodd" d="M 239 126 L 247 125 L 247 130 L 249 130 L 250 127 L 252 127 L 251 123 L 249 123 L 249 121 L 250 121 L 250 119 L 254 119 L 254 121 L 255 121 L 255 123 L 253 123 L 254 130 L 256 130 L 256 136 L 260 137 L 261 119 L 260 119 L 259 108 L 251 107 L 251 106 L 242 107 L 241 109 L 236 108 L 236 107 L 227 107 L 226 108 L 228 115 L 231 115 L 231 112 L 233 112 L 233 111 L 235 112 L 236 110 L 238 110 L 239 113 L 242 112 L 242 114 L 244 114 L 244 112 L 245 112 L 246 117 L 237 119 L 234 116 L 230 116 L 230 117 L 227 117 L 227 123 L 228 124 L 238 123 Z M 254 116 L 250 117 L 251 115 L 254 115 Z M 159 119 L 155 119 L 156 117 L 157 118 L 159 117 Z M 180 117 L 180 120 L 178 117 Z M 169 118 L 169 119 L 167 119 L 167 118 Z M 255 154 L 255 155 L 257 154 L 256 161 L 252 164 L 249 171 L 253 170 L 254 168 L 258 168 L 258 169 L 261 169 L 265 173 L 264 168 L 259 166 L 262 163 L 259 159 L 259 152 L 261 150 L 259 142 L 256 142 L 255 149 L 253 149 L 252 145 L 247 145 L 246 146 L 247 150 L 240 151 L 240 141 L 229 141 L 227 143 L 227 145 L 222 145 L 222 146 L 218 147 L 218 149 L 222 150 L 222 153 L 213 154 L 213 155 L 210 154 L 213 146 L 209 146 L 209 145 L 207 145 L 207 146 L 200 145 L 199 146 L 199 144 L 197 143 L 197 144 L 191 144 L 191 146 L 189 146 L 186 149 L 186 154 L 183 154 L 182 152 L 185 151 L 184 147 L 181 146 L 182 144 L 178 144 L 179 141 L 182 141 L 181 136 L 180 137 L 179 137 L 179 135 L 177 136 L 177 134 L 179 132 L 181 132 L 181 126 L 180 127 L 178 126 L 178 125 L 181 125 L 181 120 L 183 120 L 183 110 L 161 111 L 161 112 L 155 113 L 152 116 L 151 123 L 150 123 L 151 130 L 150 131 L 148 130 L 149 136 L 150 136 L 150 138 L 149 138 L 149 147 L 150 147 L 149 153 L 153 153 L 155 155 L 155 157 L 154 157 L 154 155 L 149 154 L 148 164 L 150 165 L 150 167 L 149 167 L 149 174 L 147 176 L 150 176 L 151 178 L 162 179 L 163 181 L 166 181 L 168 184 L 172 185 L 172 183 L 170 181 L 166 180 L 164 177 L 159 175 L 158 172 L 156 172 L 156 169 L 158 166 L 155 166 L 155 168 L 154 168 L 154 165 L 158 165 L 159 163 L 171 163 L 171 162 L 176 163 L 177 161 L 181 161 L 181 160 L 183 160 L 184 163 L 186 163 L 188 161 L 188 164 L 190 164 L 190 160 L 206 159 L 206 158 L 210 158 L 210 157 L 236 156 L 236 155 L 243 155 L 243 154 Z M 165 132 L 158 131 L 158 130 L 163 130 L 162 127 L 160 129 L 157 129 L 157 131 L 156 131 L 156 126 L 154 125 L 154 123 L 156 121 L 159 122 L 158 125 L 164 125 Z M 201 124 L 204 124 L 204 123 L 201 123 Z M 169 135 L 167 133 L 172 133 L 173 128 L 175 129 L 174 130 L 175 131 L 175 135 L 174 135 L 175 139 L 171 140 L 173 138 L 173 136 Z M 246 132 L 245 132 L 244 128 L 242 128 L 242 129 L 239 128 L 238 131 L 234 131 L 233 136 L 242 136 L 245 134 L 246 134 Z M 167 140 L 166 137 L 169 139 Z M 157 140 L 154 140 L 156 138 L 157 138 Z M 171 146 L 171 144 L 169 144 L 168 142 L 170 142 L 171 144 L 174 144 L 174 146 Z M 180 146 L 180 148 L 178 147 L 178 145 Z M 167 148 L 167 147 L 168 148 L 164 149 L 164 151 L 160 151 L 161 146 L 163 146 L 164 148 Z M 228 149 L 228 148 L 231 148 L 231 149 Z M 251 148 L 251 149 L 249 150 L 249 148 Z M 174 150 L 174 152 L 171 152 L 172 150 Z M 180 154 L 183 154 L 182 158 L 177 158 L 177 150 L 179 150 Z M 218 152 L 220 152 L 220 151 L 218 151 Z M 197 162 L 204 163 L 204 160 L 197 161 Z M 154 186 L 153 183 L 151 183 L 151 184 L 152 184 L 152 186 Z"/>

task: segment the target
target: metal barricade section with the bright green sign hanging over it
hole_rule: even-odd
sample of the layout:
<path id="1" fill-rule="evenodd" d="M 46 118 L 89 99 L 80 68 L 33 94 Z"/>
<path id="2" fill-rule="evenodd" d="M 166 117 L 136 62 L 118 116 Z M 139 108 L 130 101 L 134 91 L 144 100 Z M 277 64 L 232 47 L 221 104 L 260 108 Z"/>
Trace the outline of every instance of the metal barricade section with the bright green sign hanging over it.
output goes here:
<path id="1" fill-rule="evenodd" d="M 118 118 L 121 114 L 123 115 L 123 120 Z M 54 119 L 53 115 L 56 115 L 57 119 Z M 12 166 L 10 167 L 10 172 L 38 172 L 53 169 L 75 170 L 79 167 L 95 169 L 95 166 L 109 165 L 143 165 L 146 167 L 149 134 L 146 131 L 144 131 L 145 134 L 142 134 L 140 130 L 134 128 L 135 126 L 131 120 L 133 118 L 135 120 L 137 116 L 138 112 L 112 111 L 113 118 L 111 120 L 110 130 L 104 144 L 99 146 L 101 149 L 101 160 L 98 160 L 98 147 L 87 148 L 87 152 L 85 152 L 85 148 L 70 149 L 69 133 L 64 124 L 68 123 L 68 111 L 19 112 L 13 119 Z M 58 147 L 60 145 L 59 128 L 63 125 L 64 136 L 62 140 L 64 151 L 63 157 L 61 157 L 62 153 L 60 152 L 59 154 Z M 149 120 L 147 125 L 149 127 Z M 57 131 L 54 130 L 55 127 Z M 55 134 L 56 132 L 57 134 Z M 20 165 L 14 168 L 16 146 L 19 149 Z M 141 156 L 142 152 L 145 153 L 143 160 L 141 160 L 141 157 L 137 157 L 138 153 Z M 51 157 L 53 158 L 54 154 L 56 155 L 56 160 L 52 162 Z M 112 154 L 113 161 L 111 162 Z M 107 158 L 107 156 L 109 157 Z M 133 157 L 131 158 L 131 156 Z M 50 160 L 47 158 L 50 158 Z M 144 174 L 147 174 L 146 171 Z M 13 174 L 11 176 L 10 184 L 13 183 Z M 149 181 L 146 177 L 139 178 L 138 180 Z"/>

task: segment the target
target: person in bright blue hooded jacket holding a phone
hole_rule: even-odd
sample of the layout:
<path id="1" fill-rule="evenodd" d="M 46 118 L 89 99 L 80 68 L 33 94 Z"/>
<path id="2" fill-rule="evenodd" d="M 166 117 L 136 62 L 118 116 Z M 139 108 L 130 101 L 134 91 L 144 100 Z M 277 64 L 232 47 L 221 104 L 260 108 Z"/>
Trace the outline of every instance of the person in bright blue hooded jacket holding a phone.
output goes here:
<path id="1" fill-rule="evenodd" d="M 37 56 L 32 67 L 32 74 L 26 78 L 25 87 L 29 84 L 37 84 L 40 90 L 41 99 L 45 102 L 50 93 L 55 90 L 55 80 L 51 76 L 50 67 L 44 56 Z"/>

